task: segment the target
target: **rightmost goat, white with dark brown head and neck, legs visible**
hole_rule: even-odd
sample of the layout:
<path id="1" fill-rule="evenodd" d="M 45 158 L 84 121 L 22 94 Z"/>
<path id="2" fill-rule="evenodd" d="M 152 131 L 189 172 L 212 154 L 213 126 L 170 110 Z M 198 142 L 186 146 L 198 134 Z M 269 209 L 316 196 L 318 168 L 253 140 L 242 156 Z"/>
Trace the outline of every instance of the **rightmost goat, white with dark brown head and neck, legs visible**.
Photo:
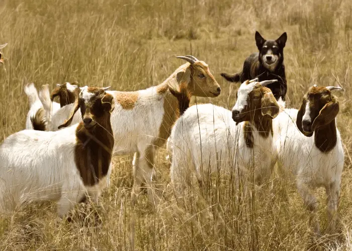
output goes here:
<path id="1" fill-rule="evenodd" d="M 295 181 L 305 207 L 311 212 L 310 226 L 315 233 L 320 233 L 318 201 L 311 189 L 325 187 L 328 231 L 335 231 L 338 220 L 344 154 L 335 124 L 339 103 L 331 91 L 341 89 L 314 85 L 303 97 L 299 110 L 286 109 L 274 119 L 278 166 Z"/>

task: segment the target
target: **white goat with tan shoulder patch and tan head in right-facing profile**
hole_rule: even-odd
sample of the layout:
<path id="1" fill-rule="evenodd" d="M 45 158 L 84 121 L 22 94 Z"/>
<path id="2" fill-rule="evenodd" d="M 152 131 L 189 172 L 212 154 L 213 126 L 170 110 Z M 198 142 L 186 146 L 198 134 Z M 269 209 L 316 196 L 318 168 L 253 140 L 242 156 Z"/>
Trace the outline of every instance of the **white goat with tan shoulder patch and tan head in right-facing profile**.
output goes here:
<path id="1" fill-rule="evenodd" d="M 155 203 L 152 189 L 155 150 L 164 145 L 173 123 L 188 108 L 190 97 L 216 97 L 221 91 L 205 62 L 189 55 L 178 58 L 188 63 L 157 86 L 131 92 L 108 92 L 116 101 L 111 117 L 115 136 L 114 154 L 134 153 L 133 204 L 143 182 L 148 185 L 149 201 Z"/>

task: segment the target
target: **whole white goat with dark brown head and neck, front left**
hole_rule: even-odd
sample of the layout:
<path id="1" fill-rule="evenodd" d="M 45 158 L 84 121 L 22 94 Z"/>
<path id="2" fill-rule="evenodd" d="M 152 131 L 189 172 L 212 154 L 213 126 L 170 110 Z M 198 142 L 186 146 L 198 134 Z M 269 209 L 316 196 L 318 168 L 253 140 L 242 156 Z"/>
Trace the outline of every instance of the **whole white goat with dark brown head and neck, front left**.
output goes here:
<path id="1" fill-rule="evenodd" d="M 114 147 L 114 98 L 106 89 L 75 90 L 83 121 L 72 127 L 57 132 L 24 130 L 5 139 L 0 145 L 1 210 L 27 201 L 55 200 L 62 217 L 85 196 L 98 202 L 109 183 Z"/>

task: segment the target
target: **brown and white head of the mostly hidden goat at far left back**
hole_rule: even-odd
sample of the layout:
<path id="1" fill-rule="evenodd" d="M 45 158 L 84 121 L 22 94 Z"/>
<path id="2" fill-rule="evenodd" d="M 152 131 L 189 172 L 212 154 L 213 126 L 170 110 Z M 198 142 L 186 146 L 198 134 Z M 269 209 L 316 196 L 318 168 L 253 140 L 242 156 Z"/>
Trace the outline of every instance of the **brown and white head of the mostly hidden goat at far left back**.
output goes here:
<path id="1" fill-rule="evenodd" d="M 60 107 L 67 104 L 74 103 L 75 100 L 75 89 L 79 89 L 78 82 L 57 84 L 57 87 L 51 93 L 51 101 L 54 100 L 56 96 L 59 96 Z"/>

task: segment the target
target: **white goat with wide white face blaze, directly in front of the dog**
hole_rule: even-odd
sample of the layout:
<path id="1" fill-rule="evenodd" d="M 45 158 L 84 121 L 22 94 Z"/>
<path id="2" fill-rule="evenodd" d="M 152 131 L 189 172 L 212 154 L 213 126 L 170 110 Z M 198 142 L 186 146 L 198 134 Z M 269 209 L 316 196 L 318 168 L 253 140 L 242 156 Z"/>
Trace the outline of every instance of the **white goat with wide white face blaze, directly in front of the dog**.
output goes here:
<path id="1" fill-rule="evenodd" d="M 190 167 L 199 180 L 218 172 L 219 167 L 229 171 L 235 164 L 246 176 L 254 164 L 255 182 L 270 176 L 276 163 L 272 119 L 279 113 L 279 104 L 265 85 L 275 81 L 257 82 L 256 78 L 243 82 L 232 114 L 212 104 L 187 109 L 175 122 L 167 143 L 172 152 L 173 187 L 182 187 Z"/>

